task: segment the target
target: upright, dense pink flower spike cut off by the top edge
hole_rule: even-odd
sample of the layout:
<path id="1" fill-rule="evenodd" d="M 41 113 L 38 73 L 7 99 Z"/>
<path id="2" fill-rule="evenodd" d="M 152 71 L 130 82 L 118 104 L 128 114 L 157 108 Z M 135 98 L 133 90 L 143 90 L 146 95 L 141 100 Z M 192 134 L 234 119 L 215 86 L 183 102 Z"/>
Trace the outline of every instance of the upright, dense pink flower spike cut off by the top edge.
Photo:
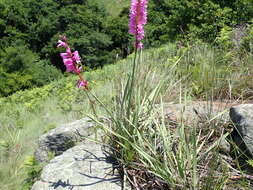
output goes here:
<path id="1" fill-rule="evenodd" d="M 135 35 L 136 48 L 142 48 L 141 40 L 144 38 L 144 25 L 147 23 L 148 0 L 132 0 L 129 20 L 129 33 Z"/>

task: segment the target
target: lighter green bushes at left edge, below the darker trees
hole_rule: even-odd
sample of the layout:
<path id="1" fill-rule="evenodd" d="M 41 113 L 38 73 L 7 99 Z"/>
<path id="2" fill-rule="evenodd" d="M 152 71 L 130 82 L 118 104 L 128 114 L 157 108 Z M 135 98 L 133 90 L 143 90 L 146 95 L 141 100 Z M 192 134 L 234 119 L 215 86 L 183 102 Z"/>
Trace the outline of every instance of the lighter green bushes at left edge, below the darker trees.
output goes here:
<path id="1" fill-rule="evenodd" d="M 48 61 L 41 60 L 25 45 L 10 46 L 1 51 L 0 93 L 10 95 L 18 90 L 48 84 L 61 73 Z"/>

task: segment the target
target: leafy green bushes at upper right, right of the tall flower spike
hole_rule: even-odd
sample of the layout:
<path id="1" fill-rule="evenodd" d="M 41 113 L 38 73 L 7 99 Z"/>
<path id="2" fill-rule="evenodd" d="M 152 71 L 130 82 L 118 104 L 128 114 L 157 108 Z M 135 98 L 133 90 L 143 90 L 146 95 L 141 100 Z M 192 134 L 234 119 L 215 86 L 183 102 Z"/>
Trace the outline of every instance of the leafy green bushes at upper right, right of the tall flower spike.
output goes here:
<path id="1" fill-rule="evenodd" d="M 213 42 L 224 26 L 247 23 L 252 17 L 248 0 L 154 0 L 149 3 L 145 40 L 152 46 L 196 38 Z"/>

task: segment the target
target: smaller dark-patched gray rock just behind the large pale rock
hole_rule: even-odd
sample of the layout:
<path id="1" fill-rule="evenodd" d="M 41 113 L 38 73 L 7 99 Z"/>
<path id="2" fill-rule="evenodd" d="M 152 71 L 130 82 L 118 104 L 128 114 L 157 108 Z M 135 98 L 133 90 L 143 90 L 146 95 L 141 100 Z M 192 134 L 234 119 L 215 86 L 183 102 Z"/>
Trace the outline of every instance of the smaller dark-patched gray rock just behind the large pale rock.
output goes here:
<path id="1" fill-rule="evenodd" d="M 83 118 L 73 123 L 61 125 L 42 135 L 38 141 L 35 158 L 39 162 L 50 159 L 50 153 L 54 156 L 62 154 L 73 147 L 81 136 L 89 136 L 94 133 L 95 123 L 90 118 Z"/>

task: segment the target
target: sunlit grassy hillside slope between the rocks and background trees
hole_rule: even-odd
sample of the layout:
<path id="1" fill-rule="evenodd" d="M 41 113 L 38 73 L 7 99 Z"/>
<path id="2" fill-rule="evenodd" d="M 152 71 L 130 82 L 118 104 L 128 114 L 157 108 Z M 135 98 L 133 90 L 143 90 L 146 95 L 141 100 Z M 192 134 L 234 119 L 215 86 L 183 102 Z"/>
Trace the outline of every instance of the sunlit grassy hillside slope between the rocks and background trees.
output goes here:
<path id="1" fill-rule="evenodd" d="M 165 102 L 250 99 L 253 83 L 244 79 L 251 76 L 252 71 L 247 68 L 252 59 L 245 59 L 247 62 L 242 68 L 231 64 L 224 58 L 226 55 L 206 44 L 185 48 L 167 44 L 149 49 L 142 52 L 139 82 L 148 80 L 145 90 L 149 92 L 166 74 L 168 88 L 162 90 L 161 97 Z M 132 61 L 133 55 L 130 55 L 116 64 L 84 72 L 90 83 L 88 92 L 77 89 L 76 77 L 69 76 L 42 88 L 0 98 L 0 189 L 17 190 L 24 185 L 29 171 L 26 163 L 41 134 L 61 123 L 94 114 L 94 110 L 98 115 L 105 113 L 91 94 L 106 106 L 115 106 L 114 100 L 130 73 Z M 150 78 L 145 78 L 145 73 L 149 73 Z"/>

